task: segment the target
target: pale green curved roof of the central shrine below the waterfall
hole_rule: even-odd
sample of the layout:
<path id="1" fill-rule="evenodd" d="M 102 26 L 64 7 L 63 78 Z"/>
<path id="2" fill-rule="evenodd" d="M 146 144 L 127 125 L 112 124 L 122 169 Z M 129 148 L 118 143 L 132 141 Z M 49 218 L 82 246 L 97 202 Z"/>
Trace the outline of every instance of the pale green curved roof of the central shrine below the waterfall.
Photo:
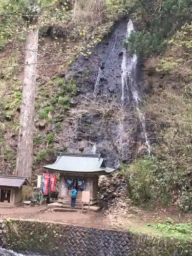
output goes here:
<path id="1" fill-rule="evenodd" d="M 48 169 L 60 172 L 110 174 L 115 169 L 105 166 L 104 159 L 96 154 L 61 153 L 55 163 L 45 165 Z"/>

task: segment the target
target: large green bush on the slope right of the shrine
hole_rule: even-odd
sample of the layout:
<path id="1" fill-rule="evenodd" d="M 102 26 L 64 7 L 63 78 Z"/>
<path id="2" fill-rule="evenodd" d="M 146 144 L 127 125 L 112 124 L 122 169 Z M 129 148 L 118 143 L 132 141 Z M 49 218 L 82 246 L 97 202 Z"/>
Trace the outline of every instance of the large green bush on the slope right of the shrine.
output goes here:
<path id="1" fill-rule="evenodd" d="M 172 163 L 174 164 L 174 163 Z M 186 172 L 163 159 L 140 158 L 122 172 L 131 185 L 135 204 L 168 205 L 175 202 L 182 210 L 191 210 L 192 191 Z"/>

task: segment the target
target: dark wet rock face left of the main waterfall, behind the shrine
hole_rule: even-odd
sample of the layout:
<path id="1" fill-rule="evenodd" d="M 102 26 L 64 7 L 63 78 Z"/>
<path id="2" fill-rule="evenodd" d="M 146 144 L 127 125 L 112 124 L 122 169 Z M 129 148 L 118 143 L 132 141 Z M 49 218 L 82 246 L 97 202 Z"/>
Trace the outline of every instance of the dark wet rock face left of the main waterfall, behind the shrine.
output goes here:
<path id="1" fill-rule="evenodd" d="M 119 160 L 134 158 L 136 133 L 140 132 L 134 106 L 127 104 L 122 109 L 121 104 L 127 22 L 119 21 L 91 55 L 80 56 L 65 74 L 66 79 L 77 81 L 78 95 L 67 113 L 60 141 L 71 152 L 92 153 L 96 145 L 96 153 L 105 156 L 108 166 L 115 167 Z"/>

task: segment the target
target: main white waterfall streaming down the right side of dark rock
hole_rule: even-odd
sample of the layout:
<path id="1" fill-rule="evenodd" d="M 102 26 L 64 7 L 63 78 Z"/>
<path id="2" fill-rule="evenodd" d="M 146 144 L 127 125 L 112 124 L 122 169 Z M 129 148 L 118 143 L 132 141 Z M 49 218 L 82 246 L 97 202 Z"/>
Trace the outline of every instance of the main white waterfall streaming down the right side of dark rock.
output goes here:
<path id="1" fill-rule="evenodd" d="M 132 32 L 134 32 L 134 27 L 133 27 L 132 20 L 129 19 L 129 22 L 127 23 L 126 38 L 129 37 L 130 33 Z M 121 64 L 122 107 L 126 103 L 125 92 L 127 92 L 127 102 L 133 103 L 135 105 L 135 108 L 137 110 L 137 113 L 141 122 L 142 135 L 145 139 L 146 150 L 148 152 L 148 155 L 150 155 L 151 154 L 150 142 L 148 141 L 147 134 L 146 134 L 145 117 L 142 114 L 141 110 L 139 109 L 139 103 L 141 100 L 138 95 L 138 85 L 136 83 L 136 78 L 137 78 L 137 55 L 136 54 L 129 55 L 127 51 L 123 49 L 123 59 Z M 129 92 L 133 97 L 133 102 L 130 102 Z"/>

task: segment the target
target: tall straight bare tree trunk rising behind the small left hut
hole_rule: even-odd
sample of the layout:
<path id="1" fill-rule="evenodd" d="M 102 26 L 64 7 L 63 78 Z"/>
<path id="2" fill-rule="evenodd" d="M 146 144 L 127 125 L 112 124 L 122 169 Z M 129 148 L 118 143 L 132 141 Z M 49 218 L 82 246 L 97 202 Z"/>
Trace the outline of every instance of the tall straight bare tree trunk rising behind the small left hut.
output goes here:
<path id="1" fill-rule="evenodd" d="M 33 161 L 33 129 L 35 114 L 35 91 L 37 73 L 38 26 L 33 22 L 28 28 L 25 47 L 23 101 L 20 111 L 17 147 L 16 175 L 26 176 L 31 181 Z M 30 49 L 30 50 L 28 50 Z"/>

